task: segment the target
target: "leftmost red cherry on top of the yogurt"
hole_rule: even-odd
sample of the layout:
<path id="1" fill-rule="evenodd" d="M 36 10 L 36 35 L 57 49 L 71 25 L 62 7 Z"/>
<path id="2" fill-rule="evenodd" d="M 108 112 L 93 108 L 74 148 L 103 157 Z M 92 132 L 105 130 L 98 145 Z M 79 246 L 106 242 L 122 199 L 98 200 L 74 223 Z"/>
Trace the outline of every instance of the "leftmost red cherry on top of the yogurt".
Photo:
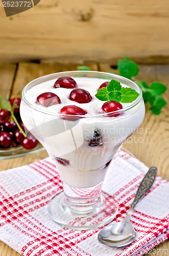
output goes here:
<path id="1" fill-rule="evenodd" d="M 46 93 L 41 93 L 37 97 L 36 103 L 42 106 L 45 106 L 45 108 L 47 108 L 48 106 L 60 104 L 61 100 L 55 93 L 46 92 Z"/>

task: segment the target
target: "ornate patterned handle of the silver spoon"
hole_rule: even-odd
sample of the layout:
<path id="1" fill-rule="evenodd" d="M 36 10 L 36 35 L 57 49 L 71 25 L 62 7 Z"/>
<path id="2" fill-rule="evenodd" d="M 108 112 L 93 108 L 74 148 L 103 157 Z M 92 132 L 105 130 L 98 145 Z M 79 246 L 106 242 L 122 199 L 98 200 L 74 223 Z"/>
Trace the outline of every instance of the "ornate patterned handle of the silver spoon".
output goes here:
<path id="1" fill-rule="evenodd" d="M 135 195 L 134 201 L 130 206 L 130 211 L 134 209 L 138 201 L 144 195 L 146 195 L 146 193 L 149 191 L 149 189 L 151 188 L 151 186 L 155 181 L 156 175 L 157 175 L 157 167 L 154 167 L 154 166 L 150 167 L 150 169 L 148 170 L 147 174 L 144 176 L 143 180 L 141 181 L 137 189 L 137 193 Z"/>

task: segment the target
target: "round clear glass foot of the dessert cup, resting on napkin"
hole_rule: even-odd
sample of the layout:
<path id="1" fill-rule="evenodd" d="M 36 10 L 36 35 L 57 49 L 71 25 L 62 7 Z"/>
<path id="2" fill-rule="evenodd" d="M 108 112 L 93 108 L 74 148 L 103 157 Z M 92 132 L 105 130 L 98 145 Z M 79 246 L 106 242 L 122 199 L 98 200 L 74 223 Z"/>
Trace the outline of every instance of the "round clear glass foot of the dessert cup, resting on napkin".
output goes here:
<path id="1" fill-rule="evenodd" d="M 76 205 L 69 204 L 62 192 L 47 205 L 47 212 L 54 222 L 62 227 L 77 230 L 102 227 L 114 219 L 117 211 L 117 202 L 104 192 L 96 202 L 84 202 L 79 205 L 77 201 Z"/>

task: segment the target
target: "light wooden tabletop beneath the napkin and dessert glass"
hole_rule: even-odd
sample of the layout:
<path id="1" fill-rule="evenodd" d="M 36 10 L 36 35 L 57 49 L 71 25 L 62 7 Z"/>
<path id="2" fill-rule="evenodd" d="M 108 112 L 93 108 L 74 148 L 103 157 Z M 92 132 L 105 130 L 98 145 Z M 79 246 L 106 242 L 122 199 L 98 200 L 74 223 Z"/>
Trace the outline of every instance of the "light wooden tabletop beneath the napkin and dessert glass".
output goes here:
<path id="1" fill-rule="evenodd" d="M 112 71 L 109 65 L 104 63 L 85 63 L 91 70 Z M 16 96 L 22 88 L 31 80 L 50 73 L 76 70 L 78 64 L 60 63 L 16 63 L 0 64 L 0 95 L 7 98 Z M 160 81 L 169 87 L 169 66 L 139 66 L 140 72 L 137 76 L 140 80 Z M 169 103 L 169 90 L 164 95 Z M 169 104 L 167 104 L 159 116 L 153 115 L 147 106 L 146 117 L 141 127 L 125 142 L 124 147 L 135 155 L 136 158 L 146 165 L 158 167 L 158 175 L 169 180 Z M 20 157 L 9 160 L 1 160 L 0 170 L 29 164 L 47 156 L 45 151 L 27 157 Z M 169 242 L 165 241 L 156 249 L 169 247 Z M 169 252 L 168 252 L 169 253 Z M 153 253 L 154 254 L 154 253 Z M 162 250 L 156 250 L 154 255 L 161 256 Z M 18 256 L 19 253 L 9 246 L 0 242 L 1 256 Z M 148 254 L 147 254 L 148 255 Z M 150 255 L 150 254 L 149 254 Z"/>

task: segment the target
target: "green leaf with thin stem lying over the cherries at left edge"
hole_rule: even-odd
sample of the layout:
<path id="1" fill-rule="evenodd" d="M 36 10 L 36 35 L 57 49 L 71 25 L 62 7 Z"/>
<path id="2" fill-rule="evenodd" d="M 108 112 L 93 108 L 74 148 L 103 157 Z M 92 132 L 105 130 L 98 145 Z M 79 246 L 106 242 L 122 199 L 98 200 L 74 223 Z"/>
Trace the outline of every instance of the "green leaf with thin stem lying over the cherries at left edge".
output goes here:
<path id="1" fill-rule="evenodd" d="M 1 110 L 8 110 L 11 113 L 11 117 L 12 117 L 12 119 L 14 119 L 16 125 L 18 126 L 18 129 L 21 131 L 21 133 L 23 134 L 24 137 L 27 137 L 25 132 L 21 129 L 16 117 L 14 116 L 15 107 L 12 107 L 10 101 L 2 95 L 0 95 L 0 109 Z M 12 120 L 10 120 L 10 121 L 12 121 Z"/>

